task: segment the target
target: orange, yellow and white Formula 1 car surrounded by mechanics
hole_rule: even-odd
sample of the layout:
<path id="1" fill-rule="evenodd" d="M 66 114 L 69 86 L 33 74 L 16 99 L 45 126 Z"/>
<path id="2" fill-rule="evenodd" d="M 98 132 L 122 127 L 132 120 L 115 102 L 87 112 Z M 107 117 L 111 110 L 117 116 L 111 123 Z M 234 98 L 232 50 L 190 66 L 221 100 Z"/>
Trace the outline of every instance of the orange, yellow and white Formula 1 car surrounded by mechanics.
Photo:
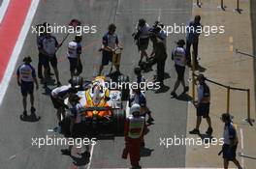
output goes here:
<path id="1" fill-rule="evenodd" d="M 128 77 L 122 75 L 117 79 L 119 82 L 125 80 L 127 83 Z M 84 135 L 123 135 L 126 112 L 122 104 L 127 99 L 122 96 L 123 89 L 112 88 L 110 84 L 106 77 L 97 76 L 90 83 L 87 82 L 84 90 L 78 91 L 77 95 L 80 97 L 82 105 L 80 132 Z M 68 99 L 65 100 L 65 103 L 69 104 Z M 64 135 L 70 133 L 70 120 L 70 111 L 67 111 L 61 129 Z"/>

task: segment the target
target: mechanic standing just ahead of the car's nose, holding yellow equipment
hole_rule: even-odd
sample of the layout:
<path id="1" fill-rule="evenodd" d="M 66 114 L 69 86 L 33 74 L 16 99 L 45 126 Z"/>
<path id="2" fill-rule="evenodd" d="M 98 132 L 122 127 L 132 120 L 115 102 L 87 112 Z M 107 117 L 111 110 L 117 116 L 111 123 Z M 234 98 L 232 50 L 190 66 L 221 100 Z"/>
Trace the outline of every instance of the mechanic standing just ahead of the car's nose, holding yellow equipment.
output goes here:
<path id="1" fill-rule="evenodd" d="M 109 31 L 103 36 L 103 46 L 99 51 L 102 51 L 102 63 L 100 66 L 99 74 L 101 75 L 104 66 L 109 65 L 112 62 L 112 55 L 116 48 L 122 49 L 122 47 L 118 44 L 117 35 L 114 33 L 116 30 L 116 26 L 112 23 L 109 25 Z M 119 72 L 119 65 L 115 65 L 115 70 Z"/>

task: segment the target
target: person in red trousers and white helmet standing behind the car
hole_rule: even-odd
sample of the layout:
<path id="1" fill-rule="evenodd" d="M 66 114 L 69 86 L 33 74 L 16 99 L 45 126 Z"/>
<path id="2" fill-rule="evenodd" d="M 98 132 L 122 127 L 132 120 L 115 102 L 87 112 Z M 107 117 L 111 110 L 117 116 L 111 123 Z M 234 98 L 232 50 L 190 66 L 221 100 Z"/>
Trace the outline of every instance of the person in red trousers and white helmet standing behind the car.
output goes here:
<path id="1" fill-rule="evenodd" d="M 141 159 L 141 142 L 144 135 L 144 117 L 140 116 L 141 106 L 133 104 L 130 109 L 130 115 L 125 122 L 124 136 L 125 148 L 123 158 L 130 155 L 130 161 L 133 169 L 142 168 L 139 164 Z"/>

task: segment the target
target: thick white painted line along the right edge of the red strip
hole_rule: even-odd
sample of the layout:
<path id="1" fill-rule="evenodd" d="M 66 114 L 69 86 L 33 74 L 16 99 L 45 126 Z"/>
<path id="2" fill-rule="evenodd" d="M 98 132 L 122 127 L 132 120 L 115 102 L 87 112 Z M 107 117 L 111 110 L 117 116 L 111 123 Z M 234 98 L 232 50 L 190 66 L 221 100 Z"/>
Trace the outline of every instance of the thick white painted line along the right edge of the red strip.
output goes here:
<path id="1" fill-rule="evenodd" d="M 8 63 L 7 69 L 5 70 L 5 74 L 4 74 L 2 82 L 0 84 L 0 105 L 2 104 L 2 101 L 5 97 L 5 93 L 9 86 L 9 82 L 10 82 L 13 72 L 16 68 L 16 61 L 17 61 L 18 55 L 19 55 L 19 53 L 23 47 L 23 44 L 25 42 L 27 33 L 30 29 L 31 22 L 33 20 L 34 15 L 36 14 L 39 2 L 40 2 L 40 0 L 32 0 L 30 8 L 28 10 L 28 13 L 26 15 L 24 24 L 21 28 L 19 35 L 18 35 L 18 38 L 16 41 L 16 46 L 12 52 L 10 61 Z"/>

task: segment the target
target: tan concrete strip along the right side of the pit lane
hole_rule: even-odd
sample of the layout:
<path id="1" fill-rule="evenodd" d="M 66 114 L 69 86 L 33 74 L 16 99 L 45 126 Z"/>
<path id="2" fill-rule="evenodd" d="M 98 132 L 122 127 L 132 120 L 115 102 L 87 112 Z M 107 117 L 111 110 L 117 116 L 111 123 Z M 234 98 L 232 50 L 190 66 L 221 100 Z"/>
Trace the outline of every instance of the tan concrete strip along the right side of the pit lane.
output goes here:
<path id="1" fill-rule="evenodd" d="M 253 1 L 252 1 L 253 2 Z M 237 54 L 235 51 L 253 53 L 253 36 L 250 19 L 250 7 L 248 1 L 240 1 L 241 14 L 234 13 L 236 1 L 225 1 L 227 9 L 225 12 L 217 10 L 219 1 L 203 1 L 202 8 L 193 8 L 193 15 L 202 16 L 203 25 L 224 25 L 225 34 L 201 36 L 199 46 L 200 65 L 206 68 L 205 75 L 216 82 L 224 85 L 250 89 L 251 95 L 251 118 L 255 119 L 255 91 L 254 91 L 254 60 L 250 57 Z M 252 3 L 254 4 L 254 3 Z M 254 10 L 251 11 L 254 14 Z M 252 19 L 255 22 L 255 18 Z M 255 24 L 255 23 L 254 23 Z M 254 32 L 254 31 L 253 31 Z M 255 36 L 255 35 L 254 35 Z M 226 112 L 226 89 L 208 83 L 211 90 L 210 117 L 213 126 L 213 137 L 222 137 L 223 124 L 219 117 Z M 195 127 L 196 110 L 192 104 L 188 106 L 187 130 Z M 246 93 L 231 91 L 230 114 L 238 129 L 240 144 L 238 153 L 255 156 L 256 150 L 252 149 L 256 139 L 255 124 L 250 127 L 242 120 L 247 116 Z M 203 121 L 202 132 L 207 130 L 206 121 Z M 188 137 L 191 135 L 187 134 Z M 197 136 L 194 136 L 196 138 Z M 187 167 L 222 167 L 222 158 L 218 156 L 221 146 L 211 146 L 208 149 L 199 146 L 188 146 L 186 148 Z M 194 157 L 194 156 L 197 157 Z M 255 168 L 255 159 L 240 157 L 240 164 L 244 168 Z M 234 166 L 234 165 L 231 165 Z"/>

